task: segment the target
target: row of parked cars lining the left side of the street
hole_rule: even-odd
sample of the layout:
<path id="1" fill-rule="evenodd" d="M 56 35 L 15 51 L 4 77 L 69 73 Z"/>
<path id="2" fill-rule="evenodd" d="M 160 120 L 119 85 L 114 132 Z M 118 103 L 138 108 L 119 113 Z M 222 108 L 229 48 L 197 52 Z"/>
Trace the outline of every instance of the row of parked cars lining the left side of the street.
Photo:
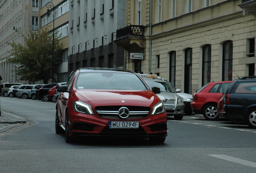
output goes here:
<path id="1" fill-rule="evenodd" d="M 62 83 L 50 83 L 50 84 L 19 84 L 17 83 L 8 83 L 9 85 L 3 84 L 4 87 L 3 96 L 5 97 L 18 97 L 23 99 L 40 99 L 42 101 L 53 101 L 56 102 L 58 97 L 58 92 L 55 90 L 56 86 L 66 84 Z M 16 85 L 10 85 L 16 84 Z M 6 88 L 8 90 L 6 91 Z M 53 91 L 52 95 L 48 96 L 49 91 Z M 57 93 L 56 93 L 57 92 Z M 49 99 L 48 99 L 49 98 Z"/>

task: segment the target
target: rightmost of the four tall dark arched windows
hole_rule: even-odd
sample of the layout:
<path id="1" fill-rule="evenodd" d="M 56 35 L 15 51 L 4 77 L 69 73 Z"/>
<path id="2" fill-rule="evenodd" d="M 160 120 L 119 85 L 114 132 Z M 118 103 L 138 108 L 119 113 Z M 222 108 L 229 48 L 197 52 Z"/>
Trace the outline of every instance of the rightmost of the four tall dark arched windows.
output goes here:
<path id="1" fill-rule="evenodd" d="M 233 73 L 233 41 L 229 40 L 223 43 L 223 66 L 222 80 L 232 80 Z"/>

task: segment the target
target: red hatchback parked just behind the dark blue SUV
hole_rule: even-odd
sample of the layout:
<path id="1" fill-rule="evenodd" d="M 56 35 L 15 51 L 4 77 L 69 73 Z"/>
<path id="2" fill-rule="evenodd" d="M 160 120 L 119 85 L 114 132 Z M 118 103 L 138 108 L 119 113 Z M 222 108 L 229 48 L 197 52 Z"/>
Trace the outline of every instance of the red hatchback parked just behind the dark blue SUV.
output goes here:
<path id="1" fill-rule="evenodd" d="M 217 120 L 217 104 L 221 95 L 232 81 L 210 82 L 192 95 L 191 107 L 194 113 L 204 115 L 206 120 Z"/>

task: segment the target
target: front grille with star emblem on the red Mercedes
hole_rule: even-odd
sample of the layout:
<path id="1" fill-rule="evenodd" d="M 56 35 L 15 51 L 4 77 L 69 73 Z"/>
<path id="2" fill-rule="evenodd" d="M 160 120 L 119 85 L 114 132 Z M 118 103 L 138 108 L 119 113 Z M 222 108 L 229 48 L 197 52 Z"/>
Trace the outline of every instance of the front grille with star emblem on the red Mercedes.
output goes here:
<path id="1" fill-rule="evenodd" d="M 126 107 L 129 109 L 129 116 L 126 119 L 140 119 L 145 118 L 149 115 L 149 107 L 139 107 L 139 106 L 101 106 L 95 107 L 97 114 L 103 118 L 109 119 L 122 119 L 118 115 L 118 110 L 121 107 Z"/>

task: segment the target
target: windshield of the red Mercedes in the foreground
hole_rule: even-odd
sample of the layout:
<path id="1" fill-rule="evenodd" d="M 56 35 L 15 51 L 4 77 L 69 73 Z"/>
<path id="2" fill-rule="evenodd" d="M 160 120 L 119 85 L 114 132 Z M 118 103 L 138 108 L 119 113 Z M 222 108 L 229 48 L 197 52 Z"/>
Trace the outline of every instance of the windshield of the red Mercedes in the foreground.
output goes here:
<path id="1" fill-rule="evenodd" d="M 133 73 L 85 72 L 76 81 L 77 89 L 146 90 L 145 84 Z"/>

